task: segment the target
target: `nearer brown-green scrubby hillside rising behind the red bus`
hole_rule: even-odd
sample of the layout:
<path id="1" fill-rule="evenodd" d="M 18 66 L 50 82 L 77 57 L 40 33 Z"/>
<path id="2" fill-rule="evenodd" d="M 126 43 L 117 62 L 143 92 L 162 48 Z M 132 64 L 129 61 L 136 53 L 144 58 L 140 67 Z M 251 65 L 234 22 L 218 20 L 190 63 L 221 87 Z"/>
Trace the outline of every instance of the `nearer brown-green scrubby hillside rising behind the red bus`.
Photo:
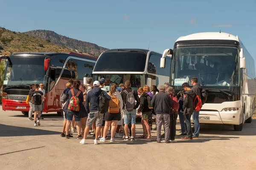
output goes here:
<path id="1" fill-rule="evenodd" d="M 43 40 L 20 32 L 6 30 L 3 36 L 9 38 L 13 37 L 10 43 L 5 44 L 0 42 L 0 53 L 3 55 L 17 52 L 76 52 L 70 48 L 49 42 L 49 40 Z"/>

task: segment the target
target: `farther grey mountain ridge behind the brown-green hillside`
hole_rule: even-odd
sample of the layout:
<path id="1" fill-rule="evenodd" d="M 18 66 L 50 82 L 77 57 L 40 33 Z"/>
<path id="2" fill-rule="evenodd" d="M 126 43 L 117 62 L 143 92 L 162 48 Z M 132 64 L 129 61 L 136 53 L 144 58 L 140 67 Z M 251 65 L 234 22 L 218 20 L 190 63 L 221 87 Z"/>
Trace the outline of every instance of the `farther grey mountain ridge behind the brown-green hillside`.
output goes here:
<path id="1" fill-rule="evenodd" d="M 34 30 L 34 31 L 28 31 L 24 33 L 34 37 L 44 39 L 44 40 L 50 40 L 52 43 L 55 43 L 57 45 L 66 46 L 74 50 L 82 51 L 83 53 L 91 54 L 95 57 L 99 57 L 99 55 L 103 51 L 108 49 L 108 48 L 100 47 L 90 42 L 84 42 L 84 41 L 76 40 L 63 35 L 59 35 L 54 31 Z"/>

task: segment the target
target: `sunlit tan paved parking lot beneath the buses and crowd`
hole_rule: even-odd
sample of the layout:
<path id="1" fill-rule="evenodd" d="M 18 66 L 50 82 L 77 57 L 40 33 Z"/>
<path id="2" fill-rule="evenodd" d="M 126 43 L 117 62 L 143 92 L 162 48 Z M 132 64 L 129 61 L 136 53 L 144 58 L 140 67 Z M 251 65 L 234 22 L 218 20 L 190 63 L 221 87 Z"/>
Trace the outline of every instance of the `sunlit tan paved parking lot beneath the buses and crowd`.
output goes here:
<path id="1" fill-rule="evenodd" d="M 1 170 L 252 170 L 256 169 L 256 120 L 241 132 L 232 126 L 201 125 L 200 139 L 170 144 L 153 139 L 87 144 L 60 137 L 63 119 L 44 114 L 40 127 L 20 112 L 0 108 Z M 177 125 L 177 133 L 180 125 Z M 137 124 L 137 136 L 142 126 Z M 76 133 L 74 133 L 76 136 Z"/>

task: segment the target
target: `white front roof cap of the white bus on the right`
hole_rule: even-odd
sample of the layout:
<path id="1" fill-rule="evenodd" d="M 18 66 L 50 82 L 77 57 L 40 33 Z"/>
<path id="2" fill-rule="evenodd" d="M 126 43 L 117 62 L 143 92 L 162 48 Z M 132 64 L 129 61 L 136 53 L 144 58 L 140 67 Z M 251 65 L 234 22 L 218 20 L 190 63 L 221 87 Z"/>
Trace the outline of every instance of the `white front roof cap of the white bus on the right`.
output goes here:
<path id="1" fill-rule="evenodd" d="M 239 38 L 232 34 L 224 33 L 224 32 L 201 32 L 190 34 L 187 36 L 179 37 L 177 41 L 185 41 L 185 40 L 235 40 L 239 42 Z"/>

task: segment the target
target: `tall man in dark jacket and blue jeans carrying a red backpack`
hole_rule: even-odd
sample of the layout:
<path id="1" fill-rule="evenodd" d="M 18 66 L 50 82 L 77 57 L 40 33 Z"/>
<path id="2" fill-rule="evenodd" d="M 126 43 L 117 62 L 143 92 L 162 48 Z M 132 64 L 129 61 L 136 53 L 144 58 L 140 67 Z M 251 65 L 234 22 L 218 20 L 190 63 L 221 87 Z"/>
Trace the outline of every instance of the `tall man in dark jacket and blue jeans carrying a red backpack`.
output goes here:
<path id="1" fill-rule="evenodd" d="M 199 96 L 201 99 L 201 85 L 198 84 L 198 79 L 196 77 L 193 77 L 191 79 L 191 84 L 193 87 L 191 88 L 192 91 L 195 92 L 196 95 Z M 198 139 L 199 138 L 199 130 L 200 130 L 200 124 L 199 124 L 199 112 L 200 111 L 194 111 L 192 114 L 193 122 L 195 124 L 195 132 L 193 135 L 193 138 Z"/>

